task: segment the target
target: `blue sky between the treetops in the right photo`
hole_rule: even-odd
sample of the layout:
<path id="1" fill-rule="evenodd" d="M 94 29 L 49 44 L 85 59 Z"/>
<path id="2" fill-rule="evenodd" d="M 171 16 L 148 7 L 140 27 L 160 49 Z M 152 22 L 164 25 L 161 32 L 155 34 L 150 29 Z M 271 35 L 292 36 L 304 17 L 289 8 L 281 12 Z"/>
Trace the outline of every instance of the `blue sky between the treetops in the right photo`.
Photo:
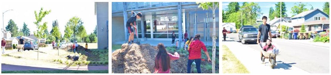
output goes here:
<path id="1" fill-rule="evenodd" d="M 225 9 L 227 8 L 227 5 L 229 5 L 230 2 L 223 2 L 222 3 L 222 10 L 225 11 Z M 243 5 L 243 2 L 238 2 L 240 6 Z M 275 4 L 277 2 L 256 2 L 260 5 L 260 8 L 261 8 L 261 13 L 263 13 L 263 15 L 261 15 L 259 17 L 259 19 L 263 16 L 266 16 L 268 17 L 269 16 L 269 8 L 272 7 L 274 10 L 275 10 Z M 294 4 L 297 3 L 297 2 L 285 2 L 285 5 L 286 5 L 286 14 L 288 15 L 288 17 L 291 17 L 293 14 L 291 13 L 291 8 L 294 6 Z M 304 2 L 304 3 L 307 3 L 307 6 L 306 8 L 307 9 L 310 9 L 311 6 L 313 6 L 313 8 L 318 8 L 320 10 L 323 11 L 323 5 L 324 5 L 324 2 Z M 272 19 L 269 19 L 269 20 L 272 20 Z"/>

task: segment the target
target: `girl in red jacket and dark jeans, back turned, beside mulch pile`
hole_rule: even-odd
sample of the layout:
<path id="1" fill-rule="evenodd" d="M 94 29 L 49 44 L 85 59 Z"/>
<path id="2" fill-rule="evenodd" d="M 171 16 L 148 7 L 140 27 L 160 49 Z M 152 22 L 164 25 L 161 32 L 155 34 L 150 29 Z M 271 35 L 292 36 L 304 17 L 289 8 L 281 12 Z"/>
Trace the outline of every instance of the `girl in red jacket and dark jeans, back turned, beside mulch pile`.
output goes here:
<path id="1" fill-rule="evenodd" d="M 206 56 L 208 57 L 208 61 L 211 62 L 212 60 L 209 57 L 205 44 L 202 41 L 200 41 L 200 34 L 195 35 L 194 41 L 191 42 L 191 45 L 189 47 L 190 48 L 189 48 L 189 56 L 187 62 L 187 73 L 191 73 L 191 65 L 193 61 L 195 61 L 196 63 L 196 68 L 198 73 L 201 73 L 201 69 L 200 69 L 201 49 L 204 50 Z"/>

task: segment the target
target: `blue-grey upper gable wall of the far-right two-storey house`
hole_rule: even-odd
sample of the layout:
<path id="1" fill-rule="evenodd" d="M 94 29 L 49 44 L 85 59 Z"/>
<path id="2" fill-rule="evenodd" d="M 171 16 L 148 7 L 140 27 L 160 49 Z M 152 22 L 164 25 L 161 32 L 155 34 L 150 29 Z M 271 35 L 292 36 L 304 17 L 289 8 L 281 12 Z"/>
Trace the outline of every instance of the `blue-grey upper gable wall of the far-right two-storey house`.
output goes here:
<path id="1" fill-rule="evenodd" d="M 305 16 L 305 19 L 306 19 L 305 22 L 313 21 L 314 17 L 321 17 L 320 20 L 322 20 L 322 17 L 329 19 L 329 16 L 327 14 L 322 13 L 322 11 L 320 11 L 320 10 L 316 10 Z"/>

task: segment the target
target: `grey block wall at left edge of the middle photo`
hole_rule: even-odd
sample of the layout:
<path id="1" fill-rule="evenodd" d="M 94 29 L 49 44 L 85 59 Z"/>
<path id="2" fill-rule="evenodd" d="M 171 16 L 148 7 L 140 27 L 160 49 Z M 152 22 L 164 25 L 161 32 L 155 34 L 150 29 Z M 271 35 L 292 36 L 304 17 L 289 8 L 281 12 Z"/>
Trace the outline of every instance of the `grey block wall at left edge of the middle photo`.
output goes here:
<path id="1" fill-rule="evenodd" d="M 123 16 L 112 17 L 112 43 L 124 41 L 124 18 Z"/>

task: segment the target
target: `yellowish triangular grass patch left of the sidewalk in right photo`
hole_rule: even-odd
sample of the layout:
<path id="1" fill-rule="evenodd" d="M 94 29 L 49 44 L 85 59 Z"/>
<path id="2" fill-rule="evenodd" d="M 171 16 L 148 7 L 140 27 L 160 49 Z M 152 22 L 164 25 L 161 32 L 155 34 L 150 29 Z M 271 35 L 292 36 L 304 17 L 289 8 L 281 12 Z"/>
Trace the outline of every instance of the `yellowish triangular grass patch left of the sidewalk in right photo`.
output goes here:
<path id="1" fill-rule="evenodd" d="M 225 45 L 222 45 L 223 73 L 249 73 L 247 68 L 232 54 Z"/>

